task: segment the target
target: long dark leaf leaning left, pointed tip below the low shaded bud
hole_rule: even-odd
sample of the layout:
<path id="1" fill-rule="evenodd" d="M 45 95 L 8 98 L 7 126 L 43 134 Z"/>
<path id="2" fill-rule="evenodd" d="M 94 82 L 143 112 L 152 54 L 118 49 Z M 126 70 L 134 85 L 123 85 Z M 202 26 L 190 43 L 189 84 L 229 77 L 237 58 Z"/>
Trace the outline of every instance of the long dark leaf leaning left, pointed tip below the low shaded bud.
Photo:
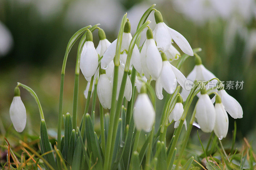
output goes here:
<path id="1" fill-rule="evenodd" d="M 103 161 L 100 154 L 100 147 L 99 145 L 97 145 L 98 141 L 95 140 L 94 129 L 92 127 L 92 120 L 88 113 L 85 115 L 85 129 L 87 150 L 89 151 L 89 153 L 92 153 L 92 164 L 97 162 L 95 168 L 102 169 Z"/>

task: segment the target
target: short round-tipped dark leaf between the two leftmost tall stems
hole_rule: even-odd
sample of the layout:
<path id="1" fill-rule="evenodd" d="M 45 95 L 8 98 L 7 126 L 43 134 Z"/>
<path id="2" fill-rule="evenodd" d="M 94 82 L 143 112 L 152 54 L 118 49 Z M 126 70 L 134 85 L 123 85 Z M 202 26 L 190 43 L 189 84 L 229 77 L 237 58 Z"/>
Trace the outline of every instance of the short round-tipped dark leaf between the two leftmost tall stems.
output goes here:
<path id="1" fill-rule="evenodd" d="M 66 160 L 68 156 L 68 146 L 69 146 L 69 140 L 72 132 L 72 120 L 69 113 L 66 114 L 65 118 L 65 124 L 64 124 L 64 146 L 65 146 L 65 155 Z"/>

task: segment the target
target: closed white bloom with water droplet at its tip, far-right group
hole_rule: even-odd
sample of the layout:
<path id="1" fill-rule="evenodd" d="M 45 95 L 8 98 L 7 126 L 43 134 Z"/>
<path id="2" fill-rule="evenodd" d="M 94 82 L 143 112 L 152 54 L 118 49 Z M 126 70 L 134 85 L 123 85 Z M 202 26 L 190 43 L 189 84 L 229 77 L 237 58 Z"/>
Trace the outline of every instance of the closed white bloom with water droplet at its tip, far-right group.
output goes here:
<path id="1" fill-rule="evenodd" d="M 215 135 L 221 140 L 227 136 L 228 133 L 228 114 L 221 103 L 220 96 L 216 96 L 215 103 L 216 120 L 214 126 Z"/>

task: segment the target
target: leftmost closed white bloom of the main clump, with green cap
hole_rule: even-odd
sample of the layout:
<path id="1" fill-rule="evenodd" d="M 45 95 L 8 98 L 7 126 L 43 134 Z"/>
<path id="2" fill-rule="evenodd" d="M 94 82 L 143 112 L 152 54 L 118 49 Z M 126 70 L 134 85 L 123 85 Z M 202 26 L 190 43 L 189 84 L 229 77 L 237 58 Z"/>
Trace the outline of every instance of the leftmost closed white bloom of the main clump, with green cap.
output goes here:
<path id="1" fill-rule="evenodd" d="M 80 69 L 84 77 L 92 77 L 98 68 L 98 54 L 92 42 L 92 33 L 88 30 L 81 53 Z"/>

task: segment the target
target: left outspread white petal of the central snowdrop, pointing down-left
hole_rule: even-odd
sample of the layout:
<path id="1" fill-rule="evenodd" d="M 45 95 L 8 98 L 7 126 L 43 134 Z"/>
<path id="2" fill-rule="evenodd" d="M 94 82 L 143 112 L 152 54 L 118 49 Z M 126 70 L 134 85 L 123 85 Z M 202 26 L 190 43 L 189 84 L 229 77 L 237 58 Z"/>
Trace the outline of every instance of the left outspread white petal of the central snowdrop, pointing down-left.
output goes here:
<path id="1" fill-rule="evenodd" d="M 108 64 L 114 59 L 114 56 L 116 55 L 116 43 L 117 39 L 113 41 L 103 54 L 103 57 L 101 59 L 100 67 L 102 69 L 105 69 L 108 67 Z"/>

